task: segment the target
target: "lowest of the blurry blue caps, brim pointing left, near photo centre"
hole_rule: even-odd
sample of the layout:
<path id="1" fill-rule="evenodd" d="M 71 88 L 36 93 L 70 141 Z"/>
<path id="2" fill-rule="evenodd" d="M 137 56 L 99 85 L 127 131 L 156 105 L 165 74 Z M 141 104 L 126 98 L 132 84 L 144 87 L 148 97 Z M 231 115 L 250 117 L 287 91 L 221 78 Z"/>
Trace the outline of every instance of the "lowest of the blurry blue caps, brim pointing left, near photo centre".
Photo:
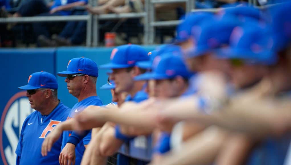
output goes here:
<path id="1" fill-rule="evenodd" d="M 153 65 L 156 65 L 154 70 L 136 76 L 134 80 L 162 80 L 175 78 L 176 76 L 190 78 L 193 75 L 193 73 L 187 69 L 180 55 L 167 53 L 162 56 L 157 56 L 153 62 Z"/>

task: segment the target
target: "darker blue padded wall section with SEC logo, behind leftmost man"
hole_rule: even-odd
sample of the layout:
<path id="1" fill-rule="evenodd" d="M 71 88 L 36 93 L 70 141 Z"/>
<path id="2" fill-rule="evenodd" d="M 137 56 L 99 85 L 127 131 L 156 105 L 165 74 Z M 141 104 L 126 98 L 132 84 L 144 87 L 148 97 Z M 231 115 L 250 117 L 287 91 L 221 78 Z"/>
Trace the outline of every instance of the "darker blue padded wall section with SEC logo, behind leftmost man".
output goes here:
<path id="1" fill-rule="evenodd" d="M 55 52 L 56 49 L 0 49 L 0 164 L 15 164 L 22 123 L 32 112 L 26 92 L 18 87 L 26 85 L 33 72 L 54 74 Z"/>

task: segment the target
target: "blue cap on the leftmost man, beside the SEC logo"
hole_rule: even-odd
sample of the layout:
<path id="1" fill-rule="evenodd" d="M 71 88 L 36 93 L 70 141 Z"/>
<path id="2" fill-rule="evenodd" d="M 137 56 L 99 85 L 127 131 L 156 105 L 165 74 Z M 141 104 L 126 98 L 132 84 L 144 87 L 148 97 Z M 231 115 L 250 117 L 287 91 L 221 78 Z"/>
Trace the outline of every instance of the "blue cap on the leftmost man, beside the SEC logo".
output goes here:
<path id="1" fill-rule="evenodd" d="M 48 72 L 32 73 L 28 78 L 28 84 L 18 87 L 19 89 L 30 90 L 39 88 L 58 89 L 56 77 Z"/>

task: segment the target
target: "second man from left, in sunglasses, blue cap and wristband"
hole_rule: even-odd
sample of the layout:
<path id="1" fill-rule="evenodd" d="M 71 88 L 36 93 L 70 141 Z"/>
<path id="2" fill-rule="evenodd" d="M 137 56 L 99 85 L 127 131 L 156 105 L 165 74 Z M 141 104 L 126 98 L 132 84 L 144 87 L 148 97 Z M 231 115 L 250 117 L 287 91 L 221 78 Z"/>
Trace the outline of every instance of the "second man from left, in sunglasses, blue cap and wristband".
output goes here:
<path id="1" fill-rule="evenodd" d="M 69 93 L 78 99 L 68 115 L 68 121 L 61 123 L 54 129 L 42 144 L 42 155 L 51 151 L 51 146 L 63 134 L 62 151 L 59 156 L 60 164 L 80 164 L 85 147 L 91 140 L 91 130 L 79 135 L 70 129 L 74 121 L 74 114 L 81 112 L 89 105 L 103 105 L 96 93 L 98 77 L 97 64 L 89 58 L 73 58 L 68 62 L 67 70 L 58 72 L 58 76 L 66 77 L 65 82 Z M 69 120 L 70 119 L 70 120 Z"/>

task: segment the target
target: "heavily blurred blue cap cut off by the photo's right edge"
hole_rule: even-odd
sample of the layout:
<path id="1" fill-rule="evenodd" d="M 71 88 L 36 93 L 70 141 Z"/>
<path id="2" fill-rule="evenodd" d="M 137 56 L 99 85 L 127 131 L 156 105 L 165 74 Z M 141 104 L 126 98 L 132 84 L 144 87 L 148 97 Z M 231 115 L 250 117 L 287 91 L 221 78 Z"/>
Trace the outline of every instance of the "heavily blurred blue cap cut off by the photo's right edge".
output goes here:
<path id="1" fill-rule="evenodd" d="M 291 42 L 291 2 L 282 3 L 272 11 L 272 31 L 274 35 L 274 49 L 285 49 Z"/>

